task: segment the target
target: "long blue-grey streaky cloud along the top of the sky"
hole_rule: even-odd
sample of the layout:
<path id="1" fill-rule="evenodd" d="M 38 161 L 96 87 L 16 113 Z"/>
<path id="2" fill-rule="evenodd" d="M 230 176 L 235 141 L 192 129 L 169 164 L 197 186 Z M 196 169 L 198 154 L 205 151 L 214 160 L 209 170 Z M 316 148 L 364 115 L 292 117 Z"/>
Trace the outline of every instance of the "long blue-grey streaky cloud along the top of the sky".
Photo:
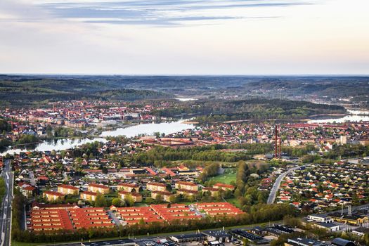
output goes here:
<path id="1" fill-rule="evenodd" d="M 307 1 L 307 0 L 306 0 Z M 87 23 L 119 25 L 199 25 L 221 20 L 276 18 L 252 15 L 246 8 L 287 7 L 311 4 L 299 0 L 127 0 L 127 1 L 44 1 L 37 6 L 53 18 Z"/>

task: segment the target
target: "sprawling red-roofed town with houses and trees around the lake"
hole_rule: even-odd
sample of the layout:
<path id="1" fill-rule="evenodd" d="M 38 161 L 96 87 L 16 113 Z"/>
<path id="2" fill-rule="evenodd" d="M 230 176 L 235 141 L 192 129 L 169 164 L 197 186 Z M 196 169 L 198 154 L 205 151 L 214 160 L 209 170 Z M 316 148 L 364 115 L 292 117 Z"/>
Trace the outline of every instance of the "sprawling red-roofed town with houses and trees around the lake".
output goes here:
<path id="1" fill-rule="evenodd" d="M 168 134 L 98 136 L 160 124 L 168 119 L 151 112 L 166 106 L 71 101 L 1 111 L 8 142 L 91 138 L 60 150 L 4 152 L 0 165 L 11 165 L 14 175 L 12 238 L 61 240 L 74 231 L 69 240 L 159 234 L 102 245 L 325 245 L 335 235 L 333 245 L 349 245 L 368 234 L 369 122 L 190 127 L 196 122 L 188 120 Z M 271 207 L 255 214 L 262 206 Z M 261 225 L 242 226 L 255 223 Z M 219 226 L 234 229 L 214 230 Z M 170 235 L 161 237 L 158 228 Z M 176 234 L 191 228 L 197 232 Z M 89 243 L 83 245 L 100 242 Z"/>

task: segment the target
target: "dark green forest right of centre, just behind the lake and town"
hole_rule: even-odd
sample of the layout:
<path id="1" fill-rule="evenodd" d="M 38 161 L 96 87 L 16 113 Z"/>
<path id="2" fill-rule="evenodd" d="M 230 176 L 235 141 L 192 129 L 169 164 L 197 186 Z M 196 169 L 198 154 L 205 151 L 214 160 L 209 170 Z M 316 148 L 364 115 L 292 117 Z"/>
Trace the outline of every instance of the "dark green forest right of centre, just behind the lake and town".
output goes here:
<path id="1" fill-rule="evenodd" d="M 198 100 L 175 105 L 165 110 L 154 110 L 158 117 L 196 116 L 200 123 L 225 122 L 240 119 L 304 119 L 311 115 L 345 113 L 338 105 L 306 101 L 249 98 L 243 100 Z"/>

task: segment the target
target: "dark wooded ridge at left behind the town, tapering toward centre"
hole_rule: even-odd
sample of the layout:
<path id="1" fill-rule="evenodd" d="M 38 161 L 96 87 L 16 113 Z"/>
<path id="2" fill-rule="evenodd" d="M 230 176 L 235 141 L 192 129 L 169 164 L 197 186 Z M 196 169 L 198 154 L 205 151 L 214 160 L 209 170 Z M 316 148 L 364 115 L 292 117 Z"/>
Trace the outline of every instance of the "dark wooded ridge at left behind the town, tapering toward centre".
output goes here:
<path id="1" fill-rule="evenodd" d="M 0 104 L 28 106 L 48 101 L 93 99 L 136 101 L 169 98 L 167 93 L 145 89 L 123 89 L 111 82 L 83 78 L 0 76 Z"/>

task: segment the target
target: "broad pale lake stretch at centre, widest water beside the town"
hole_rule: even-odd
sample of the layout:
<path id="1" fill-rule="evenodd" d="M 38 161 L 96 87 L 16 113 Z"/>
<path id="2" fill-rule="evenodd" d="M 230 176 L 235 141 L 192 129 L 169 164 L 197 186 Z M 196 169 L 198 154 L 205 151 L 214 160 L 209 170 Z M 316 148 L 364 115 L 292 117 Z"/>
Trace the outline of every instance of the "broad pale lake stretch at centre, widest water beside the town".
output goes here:
<path id="1" fill-rule="evenodd" d="M 160 134 L 174 134 L 178 131 L 195 128 L 194 124 L 183 123 L 187 120 L 188 119 L 181 119 L 176 122 L 138 124 L 132 127 L 103 131 L 100 136 L 127 136 L 127 138 L 131 138 L 139 134 L 153 135 L 155 132 L 160 132 Z"/>

